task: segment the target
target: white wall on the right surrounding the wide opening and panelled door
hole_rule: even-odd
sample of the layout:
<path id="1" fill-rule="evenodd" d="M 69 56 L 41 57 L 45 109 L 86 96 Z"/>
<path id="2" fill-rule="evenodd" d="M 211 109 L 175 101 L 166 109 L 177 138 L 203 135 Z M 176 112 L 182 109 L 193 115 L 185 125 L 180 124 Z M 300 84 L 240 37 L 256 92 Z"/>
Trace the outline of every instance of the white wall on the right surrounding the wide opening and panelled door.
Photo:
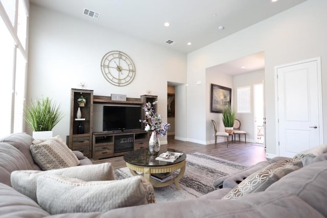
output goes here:
<path id="1" fill-rule="evenodd" d="M 276 154 L 274 66 L 321 57 L 322 93 L 327 93 L 327 1 L 308 0 L 294 8 L 216 41 L 188 54 L 188 137 L 206 138 L 209 104 L 207 89 L 196 85 L 205 80 L 206 68 L 240 57 L 265 52 L 265 113 L 267 153 Z M 323 114 L 327 114 L 327 95 L 323 94 Z M 324 125 L 327 116 L 323 117 Z M 324 138 L 327 128 L 324 128 Z"/>

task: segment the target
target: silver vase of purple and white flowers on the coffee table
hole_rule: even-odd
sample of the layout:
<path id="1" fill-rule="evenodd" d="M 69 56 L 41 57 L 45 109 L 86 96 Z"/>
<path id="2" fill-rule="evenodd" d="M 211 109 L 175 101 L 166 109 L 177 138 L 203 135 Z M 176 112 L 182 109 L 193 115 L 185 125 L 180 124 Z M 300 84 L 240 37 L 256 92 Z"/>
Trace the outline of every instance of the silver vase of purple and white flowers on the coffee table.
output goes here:
<path id="1" fill-rule="evenodd" d="M 170 129 L 170 124 L 162 124 L 162 116 L 160 114 L 156 114 L 153 111 L 152 105 L 157 103 L 157 101 L 153 102 L 152 104 L 150 102 L 146 103 L 143 108 L 145 111 L 146 119 L 139 120 L 139 122 L 146 124 L 144 129 L 145 131 L 152 132 L 149 139 L 149 152 L 151 155 L 157 155 L 160 150 L 160 141 L 158 136 L 164 137 L 167 134 L 167 131 Z"/>

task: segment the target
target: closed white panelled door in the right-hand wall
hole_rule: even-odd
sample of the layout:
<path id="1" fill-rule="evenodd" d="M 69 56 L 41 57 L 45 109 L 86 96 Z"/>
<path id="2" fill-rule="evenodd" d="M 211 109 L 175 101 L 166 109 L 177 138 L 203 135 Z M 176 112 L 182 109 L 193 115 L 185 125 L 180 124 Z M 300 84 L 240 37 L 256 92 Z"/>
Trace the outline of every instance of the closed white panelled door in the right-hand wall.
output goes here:
<path id="1" fill-rule="evenodd" d="M 276 72 L 279 155 L 293 157 L 323 143 L 320 59 L 279 66 Z"/>

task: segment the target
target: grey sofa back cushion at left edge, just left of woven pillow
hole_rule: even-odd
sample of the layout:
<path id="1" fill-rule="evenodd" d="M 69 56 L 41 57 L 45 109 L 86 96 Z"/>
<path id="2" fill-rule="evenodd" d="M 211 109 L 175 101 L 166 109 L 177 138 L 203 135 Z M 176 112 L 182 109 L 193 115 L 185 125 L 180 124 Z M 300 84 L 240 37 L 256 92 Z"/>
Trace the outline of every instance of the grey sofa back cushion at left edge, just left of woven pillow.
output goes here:
<path id="1" fill-rule="evenodd" d="M 11 186 L 11 172 L 31 168 L 29 161 L 18 149 L 11 144 L 0 142 L 0 182 Z"/>

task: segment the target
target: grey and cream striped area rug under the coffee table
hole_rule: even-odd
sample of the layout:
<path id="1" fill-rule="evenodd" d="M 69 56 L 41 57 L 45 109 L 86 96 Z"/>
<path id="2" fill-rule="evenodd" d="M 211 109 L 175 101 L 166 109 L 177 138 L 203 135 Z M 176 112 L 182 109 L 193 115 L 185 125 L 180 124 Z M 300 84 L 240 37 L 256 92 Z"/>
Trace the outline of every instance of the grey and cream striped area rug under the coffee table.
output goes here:
<path id="1" fill-rule="evenodd" d="M 223 176 L 236 173 L 247 166 L 217 157 L 192 153 L 186 155 L 186 169 L 179 181 L 180 190 L 175 184 L 154 188 L 157 202 L 195 199 L 215 190 L 214 182 Z M 115 169 L 116 179 L 131 177 L 128 167 Z"/>

